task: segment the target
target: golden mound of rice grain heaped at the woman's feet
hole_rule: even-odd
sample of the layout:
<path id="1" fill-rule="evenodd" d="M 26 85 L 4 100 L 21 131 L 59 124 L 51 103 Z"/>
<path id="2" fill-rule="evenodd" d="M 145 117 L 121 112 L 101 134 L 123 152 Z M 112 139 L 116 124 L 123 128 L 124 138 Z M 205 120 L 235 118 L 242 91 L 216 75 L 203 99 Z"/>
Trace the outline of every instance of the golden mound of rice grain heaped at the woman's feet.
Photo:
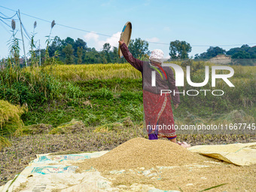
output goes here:
<path id="1" fill-rule="evenodd" d="M 143 138 L 130 139 L 101 157 L 84 160 L 78 163 L 79 171 L 92 166 L 99 171 L 151 168 L 155 166 L 182 166 L 203 163 L 209 160 L 200 154 L 167 140 L 148 140 Z"/>

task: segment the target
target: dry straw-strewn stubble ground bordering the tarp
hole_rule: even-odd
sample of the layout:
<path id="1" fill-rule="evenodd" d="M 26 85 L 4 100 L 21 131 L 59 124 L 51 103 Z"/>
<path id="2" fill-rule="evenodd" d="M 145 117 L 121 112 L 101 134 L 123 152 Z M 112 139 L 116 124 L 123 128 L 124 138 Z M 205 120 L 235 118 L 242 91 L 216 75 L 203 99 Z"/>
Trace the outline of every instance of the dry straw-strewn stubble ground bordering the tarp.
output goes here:
<path id="1" fill-rule="evenodd" d="M 62 152 L 74 154 L 84 151 L 103 151 L 116 148 L 118 145 L 136 137 L 145 137 L 141 133 L 72 133 L 63 135 L 30 135 L 10 139 L 11 147 L 0 151 L 0 186 L 36 158 L 36 154 Z M 256 142 L 256 136 L 178 136 L 178 140 L 193 145 L 216 145 L 229 143 Z"/>

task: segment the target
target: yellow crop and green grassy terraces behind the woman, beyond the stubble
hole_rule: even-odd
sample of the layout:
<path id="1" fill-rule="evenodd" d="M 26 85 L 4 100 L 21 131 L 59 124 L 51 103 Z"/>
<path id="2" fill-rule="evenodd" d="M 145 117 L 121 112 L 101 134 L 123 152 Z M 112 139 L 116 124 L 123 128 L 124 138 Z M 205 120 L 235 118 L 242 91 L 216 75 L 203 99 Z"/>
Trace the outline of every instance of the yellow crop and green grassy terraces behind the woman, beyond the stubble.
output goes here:
<path id="1" fill-rule="evenodd" d="M 209 62 L 193 62 L 192 64 L 192 80 L 194 82 L 202 82 L 204 79 L 204 66 L 211 66 Z M 198 66 L 200 67 L 198 68 Z M 194 67 L 194 68 L 193 68 Z M 228 87 L 222 80 L 217 80 L 216 87 L 211 87 L 211 79 L 209 84 L 200 89 L 207 90 L 224 90 L 223 96 L 212 96 L 212 94 L 199 94 L 198 96 L 182 96 L 181 105 L 177 110 L 173 110 L 176 120 L 184 120 L 187 116 L 194 118 L 206 119 L 212 117 L 217 120 L 218 114 L 232 113 L 233 115 L 242 113 L 243 118 L 254 119 L 256 111 L 255 103 L 255 66 L 232 66 L 235 75 L 230 81 L 235 87 Z M 210 68 L 211 69 L 211 68 Z M 26 69 L 29 71 L 29 69 Z M 113 123 L 123 117 L 132 117 L 136 122 L 143 120 L 143 102 L 142 102 L 142 77 L 140 72 L 130 66 L 130 64 L 99 64 L 99 65 L 71 65 L 71 66 L 47 66 L 44 69 L 47 75 L 59 81 L 56 87 L 59 87 L 59 99 L 66 100 L 69 107 L 76 108 L 78 105 L 84 108 L 78 111 L 82 112 L 80 120 L 88 126 L 99 126 L 104 123 Z M 32 71 L 38 76 L 37 71 Z M 211 70 L 210 70 L 211 73 Z M 198 90 L 197 87 L 191 87 L 185 84 L 179 87 L 181 91 Z M 57 88 L 55 88 L 57 90 Z M 61 98 L 62 97 L 62 98 Z M 58 101 L 60 102 L 60 101 Z M 90 103 L 90 105 L 89 105 Z M 62 105 L 62 102 L 60 103 Z M 54 103 L 47 103 L 54 105 Z M 58 105 L 60 107 L 61 105 Z M 102 110 L 104 109 L 104 110 Z M 95 113 L 92 112 L 95 110 Z M 232 111 L 239 112 L 232 112 Z M 76 111 L 76 110 L 75 110 Z M 241 112 L 242 111 L 242 112 Z M 56 112 L 56 111 L 55 111 Z M 104 118 L 100 114 L 104 114 Z M 53 114 L 54 115 L 54 114 Z M 60 112 L 59 116 L 69 117 Z M 58 117 L 59 117 L 58 116 Z M 227 115 L 226 115 L 227 116 Z M 231 115 L 232 116 L 232 115 Z M 32 122 L 32 116 L 29 114 Z M 53 123 L 44 119 L 40 123 Z M 75 117 L 75 116 L 74 116 Z M 65 123 L 72 120 L 61 120 L 59 123 Z M 233 117 L 229 117 L 232 122 Z M 26 118 L 24 117 L 25 123 Z M 38 119 L 37 119 L 38 120 Z M 55 118 L 54 118 L 55 120 Z M 107 120 L 107 121 L 105 121 Z M 242 122 L 241 122 L 242 123 Z M 53 125 L 57 125 L 53 123 Z"/>

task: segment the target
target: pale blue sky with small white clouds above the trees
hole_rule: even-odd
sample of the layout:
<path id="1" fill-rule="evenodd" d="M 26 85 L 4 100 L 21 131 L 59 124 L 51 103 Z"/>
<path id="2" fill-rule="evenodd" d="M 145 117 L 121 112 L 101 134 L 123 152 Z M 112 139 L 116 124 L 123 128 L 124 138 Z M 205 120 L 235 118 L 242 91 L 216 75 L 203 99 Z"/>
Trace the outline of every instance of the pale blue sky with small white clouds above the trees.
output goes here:
<path id="1" fill-rule="evenodd" d="M 29 35 L 33 32 L 35 20 L 37 21 L 35 41 L 40 39 L 43 48 L 47 39 L 45 36 L 50 33 L 50 23 L 46 21 L 52 20 L 55 20 L 57 25 L 53 27 L 51 36 L 57 35 L 62 39 L 82 38 L 88 47 L 95 47 L 96 50 L 101 50 L 105 42 L 117 47 L 120 32 L 127 21 L 133 25 L 131 38 L 150 41 L 149 49 L 161 49 L 166 57 L 169 56 L 169 42 L 175 40 L 190 43 L 190 56 L 203 53 L 210 45 L 225 50 L 241 47 L 242 44 L 256 45 L 254 0 L 0 0 L 0 6 L 5 7 L 0 7 L 0 59 L 8 56 L 8 40 L 11 38 L 11 20 L 3 17 L 12 17 L 18 9 Z M 15 16 L 14 19 L 17 20 L 18 17 Z M 20 30 L 18 20 L 16 25 Z M 95 32 L 103 35 L 97 35 Z M 21 38 L 20 31 L 17 32 L 17 38 Z M 20 45 L 21 43 L 22 41 Z M 26 38 L 25 47 L 28 53 L 29 41 Z M 20 54 L 23 55 L 23 49 Z"/>

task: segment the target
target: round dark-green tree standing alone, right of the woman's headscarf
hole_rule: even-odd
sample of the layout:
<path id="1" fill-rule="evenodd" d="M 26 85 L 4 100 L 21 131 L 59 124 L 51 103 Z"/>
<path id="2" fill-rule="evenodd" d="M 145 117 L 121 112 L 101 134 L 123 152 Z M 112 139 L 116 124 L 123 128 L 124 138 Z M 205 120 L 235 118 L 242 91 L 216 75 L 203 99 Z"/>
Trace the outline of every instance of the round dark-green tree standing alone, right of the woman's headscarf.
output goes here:
<path id="1" fill-rule="evenodd" d="M 169 56 L 172 59 L 188 59 L 192 47 L 186 41 L 171 41 L 169 45 Z"/>

